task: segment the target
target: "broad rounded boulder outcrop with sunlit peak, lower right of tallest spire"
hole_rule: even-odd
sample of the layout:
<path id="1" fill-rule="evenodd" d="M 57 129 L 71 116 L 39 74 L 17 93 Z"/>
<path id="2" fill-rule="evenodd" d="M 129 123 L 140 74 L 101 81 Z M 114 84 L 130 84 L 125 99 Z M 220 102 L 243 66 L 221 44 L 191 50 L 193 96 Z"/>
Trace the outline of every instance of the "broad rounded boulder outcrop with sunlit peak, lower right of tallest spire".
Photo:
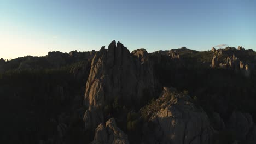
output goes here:
<path id="1" fill-rule="evenodd" d="M 149 112 L 158 104 L 159 109 Z M 170 88 L 164 88 L 155 106 L 145 108 L 142 112 L 147 111 L 149 115 L 143 130 L 145 143 L 212 142 L 213 128 L 206 113 L 196 107 L 188 95 L 172 93 Z"/>

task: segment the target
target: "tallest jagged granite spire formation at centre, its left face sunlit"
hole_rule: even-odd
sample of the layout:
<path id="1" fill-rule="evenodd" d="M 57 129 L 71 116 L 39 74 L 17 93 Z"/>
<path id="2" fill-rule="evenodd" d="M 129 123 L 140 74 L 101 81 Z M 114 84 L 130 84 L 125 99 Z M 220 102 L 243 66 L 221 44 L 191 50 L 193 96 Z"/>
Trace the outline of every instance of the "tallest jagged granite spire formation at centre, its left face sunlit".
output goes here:
<path id="1" fill-rule="evenodd" d="M 101 109 L 115 98 L 125 105 L 137 104 L 146 88 L 152 94 L 155 85 L 147 51 L 141 49 L 131 54 L 123 44 L 112 41 L 108 50 L 102 47 L 92 60 L 85 105 Z"/>

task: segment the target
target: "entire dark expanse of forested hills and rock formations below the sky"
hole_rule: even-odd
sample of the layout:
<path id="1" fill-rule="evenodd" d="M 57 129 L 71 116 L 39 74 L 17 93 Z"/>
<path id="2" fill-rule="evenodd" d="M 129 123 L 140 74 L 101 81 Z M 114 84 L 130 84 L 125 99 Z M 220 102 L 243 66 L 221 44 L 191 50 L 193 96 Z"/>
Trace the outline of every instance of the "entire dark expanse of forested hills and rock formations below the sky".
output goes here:
<path id="1" fill-rule="evenodd" d="M 148 53 L 119 41 L 0 59 L 3 141 L 256 143 L 255 63 L 243 47 Z"/>

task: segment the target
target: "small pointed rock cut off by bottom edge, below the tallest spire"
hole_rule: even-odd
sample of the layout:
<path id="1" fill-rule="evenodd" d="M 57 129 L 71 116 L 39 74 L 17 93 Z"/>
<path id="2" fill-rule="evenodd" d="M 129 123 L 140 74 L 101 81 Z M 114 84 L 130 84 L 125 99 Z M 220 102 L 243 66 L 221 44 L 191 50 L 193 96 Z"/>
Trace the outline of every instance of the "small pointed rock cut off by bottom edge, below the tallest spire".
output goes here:
<path id="1" fill-rule="evenodd" d="M 110 118 L 106 125 L 102 123 L 95 130 L 94 141 L 91 144 L 127 144 L 127 135 L 117 127 L 114 118 Z"/>

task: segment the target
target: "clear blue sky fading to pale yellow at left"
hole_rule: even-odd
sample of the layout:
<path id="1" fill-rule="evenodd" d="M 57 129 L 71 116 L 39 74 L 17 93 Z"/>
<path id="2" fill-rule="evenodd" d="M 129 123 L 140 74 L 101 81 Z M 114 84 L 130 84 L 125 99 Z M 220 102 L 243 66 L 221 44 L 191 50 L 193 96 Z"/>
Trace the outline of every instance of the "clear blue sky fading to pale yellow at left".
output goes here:
<path id="1" fill-rule="evenodd" d="M 0 58 L 100 50 L 213 46 L 256 51 L 256 1 L 0 0 Z"/>

